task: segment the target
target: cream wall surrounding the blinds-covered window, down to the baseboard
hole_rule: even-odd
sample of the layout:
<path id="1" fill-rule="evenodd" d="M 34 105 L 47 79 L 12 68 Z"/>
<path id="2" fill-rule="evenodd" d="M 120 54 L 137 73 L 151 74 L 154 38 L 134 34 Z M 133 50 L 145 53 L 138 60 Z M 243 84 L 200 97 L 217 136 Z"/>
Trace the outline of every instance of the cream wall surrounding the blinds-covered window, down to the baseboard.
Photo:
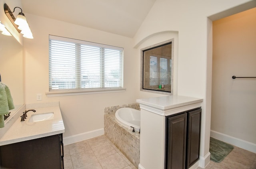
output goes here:
<path id="1" fill-rule="evenodd" d="M 136 102 L 134 75 L 138 72 L 133 67 L 134 60 L 138 56 L 136 56 L 136 50 L 132 48 L 131 38 L 31 14 L 26 14 L 26 18 L 34 39 L 24 39 L 25 102 L 29 104 L 60 101 L 65 125 L 64 138 L 102 130 L 105 107 Z M 47 97 L 45 92 L 48 91 L 49 34 L 124 47 L 124 87 L 126 91 Z M 36 94 L 39 93 L 42 94 L 42 101 L 36 101 Z"/>

